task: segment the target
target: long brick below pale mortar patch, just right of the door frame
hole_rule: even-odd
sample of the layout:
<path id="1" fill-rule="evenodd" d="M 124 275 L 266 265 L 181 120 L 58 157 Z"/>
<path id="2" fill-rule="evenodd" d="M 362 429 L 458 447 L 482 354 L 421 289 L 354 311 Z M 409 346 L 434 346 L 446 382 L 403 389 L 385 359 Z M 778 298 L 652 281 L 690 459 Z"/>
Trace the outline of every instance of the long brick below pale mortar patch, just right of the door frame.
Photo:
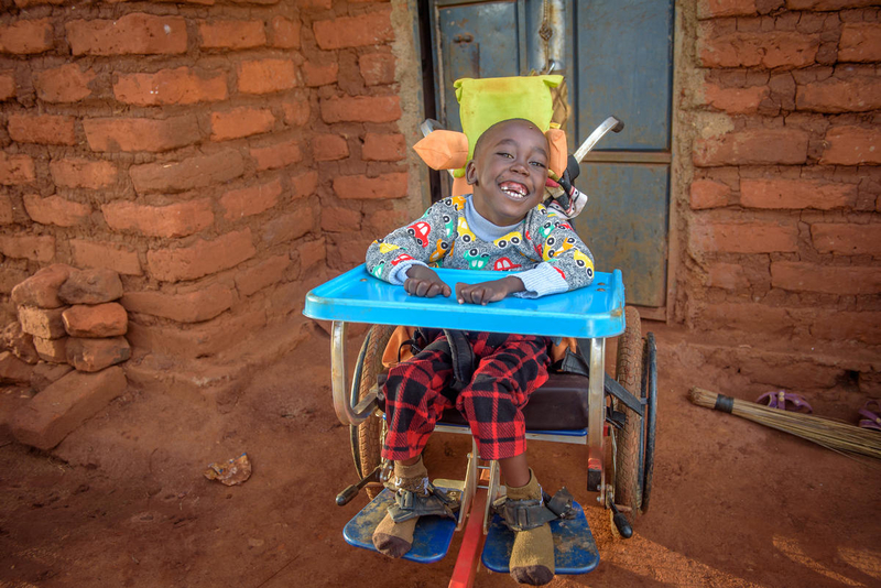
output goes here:
<path id="1" fill-rule="evenodd" d="M 802 164 L 807 161 L 807 143 L 804 131 L 750 129 L 698 139 L 693 159 L 698 167 Z"/>

